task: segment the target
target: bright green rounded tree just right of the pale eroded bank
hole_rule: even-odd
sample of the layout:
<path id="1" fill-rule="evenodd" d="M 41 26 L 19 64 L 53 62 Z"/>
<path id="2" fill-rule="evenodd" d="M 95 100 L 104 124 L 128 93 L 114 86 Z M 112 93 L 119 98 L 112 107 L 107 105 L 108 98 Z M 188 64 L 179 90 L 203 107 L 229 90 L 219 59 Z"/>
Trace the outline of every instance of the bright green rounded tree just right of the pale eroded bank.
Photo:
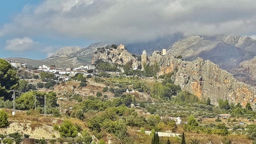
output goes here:
<path id="1" fill-rule="evenodd" d="M 77 132 L 77 128 L 74 126 L 74 124 L 65 119 L 63 121 L 63 124 L 59 127 L 59 132 L 60 132 L 60 136 L 61 137 L 76 137 L 78 132 Z"/>

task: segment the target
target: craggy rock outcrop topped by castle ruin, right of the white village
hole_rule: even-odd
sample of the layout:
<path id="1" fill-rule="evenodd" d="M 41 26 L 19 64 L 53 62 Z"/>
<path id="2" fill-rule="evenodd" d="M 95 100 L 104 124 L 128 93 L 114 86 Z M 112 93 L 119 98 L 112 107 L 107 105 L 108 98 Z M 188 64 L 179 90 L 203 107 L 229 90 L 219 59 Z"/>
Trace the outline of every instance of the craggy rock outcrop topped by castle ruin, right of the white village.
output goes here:
<path id="1" fill-rule="evenodd" d="M 94 64 L 97 60 L 103 60 L 110 64 L 119 65 L 125 65 L 128 62 L 132 61 L 133 69 L 138 67 L 138 65 L 140 64 L 140 61 L 137 60 L 137 57 L 127 52 L 123 45 L 120 45 L 116 49 L 105 48 L 103 50 L 97 50 L 92 57 L 92 64 Z"/>

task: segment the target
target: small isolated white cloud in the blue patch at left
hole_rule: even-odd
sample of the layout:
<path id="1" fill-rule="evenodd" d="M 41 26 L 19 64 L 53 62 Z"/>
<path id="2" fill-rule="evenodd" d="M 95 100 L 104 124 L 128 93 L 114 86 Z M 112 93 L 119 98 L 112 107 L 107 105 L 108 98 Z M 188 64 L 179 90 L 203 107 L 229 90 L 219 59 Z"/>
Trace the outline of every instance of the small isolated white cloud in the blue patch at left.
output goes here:
<path id="1" fill-rule="evenodd" d="M 32 39 L 28 37 L 24 38 L 14 38 L 11 40 L 6 41 L 6 50 L 12 50 L 12 51 L 18 51 L 23 52 L 31 49 L 37 48 L 36 42 L 34 42 Z"/>

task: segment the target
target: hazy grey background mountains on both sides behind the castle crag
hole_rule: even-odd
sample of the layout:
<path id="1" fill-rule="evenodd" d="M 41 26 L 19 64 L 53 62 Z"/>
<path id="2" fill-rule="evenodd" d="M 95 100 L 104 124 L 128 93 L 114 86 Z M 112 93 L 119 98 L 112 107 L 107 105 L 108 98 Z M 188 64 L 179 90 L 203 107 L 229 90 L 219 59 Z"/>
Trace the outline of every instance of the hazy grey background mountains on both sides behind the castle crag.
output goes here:
<path id="1" fill-rule="evenodd" d="M 19 60 L 34 67 L 39 65 L 56 65 L 57 67 L 76 67 L 91 63 L 92 55 L 98 47 L 110 47 L 109 43 L 93 43 L 82 47 L 63 47 L 44 60 L 25 58 L 6 58 Z M 186 61 L 193 61 L 197 57 L 210 60 L 227 70 L 238 80 L 256 86 L 256 40 L 248 36 L 216 36 L 215 38 L 202 36 L 185 37 L 182 34 L 160 37 L 150 42 L 127 44 L 125 48 L 130 53 L 140 55 L 147 50 L 150 55 L 154 50 L 165 48 L 167 54 L 181 55 Z"/>

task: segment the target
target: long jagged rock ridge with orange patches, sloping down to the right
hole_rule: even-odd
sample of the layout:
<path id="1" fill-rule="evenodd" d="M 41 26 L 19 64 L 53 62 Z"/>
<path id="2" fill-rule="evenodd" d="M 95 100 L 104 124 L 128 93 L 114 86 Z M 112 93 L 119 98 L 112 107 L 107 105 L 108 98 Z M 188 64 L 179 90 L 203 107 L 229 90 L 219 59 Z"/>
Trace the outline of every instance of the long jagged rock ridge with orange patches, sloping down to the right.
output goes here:
<path id="1" fill-rule="evenodd" d="M 218 99 L 228 99 L 230 102 L 240 102 L 242 105 L 255 101 L 254 87 L 238 81 L 209 60 L 197 58 L 193 61 L 183 61 L 174 58 L 171 54 L 163 56 L 158 51 L 148 58 L 150 65 L 158 64 L 158 75 L 174 72 L 175 84 L 199 99 L 209 97 L 215 105 Z"/>

